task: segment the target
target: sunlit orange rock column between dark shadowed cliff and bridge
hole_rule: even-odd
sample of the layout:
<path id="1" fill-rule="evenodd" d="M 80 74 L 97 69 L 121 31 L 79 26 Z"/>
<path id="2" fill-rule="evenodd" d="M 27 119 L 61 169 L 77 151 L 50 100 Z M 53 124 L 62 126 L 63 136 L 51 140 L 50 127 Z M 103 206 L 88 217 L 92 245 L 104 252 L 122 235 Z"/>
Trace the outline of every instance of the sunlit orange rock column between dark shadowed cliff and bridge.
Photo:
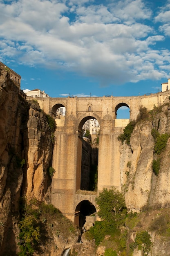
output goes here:
<path id="1" fill-rule="evenodd" d="M 47 169 L 52 155 L 51 133 L 47 118 L 40 107 L 31 104 L 28 111 L 27 135 L 25 136 L 25 188 L 27 198 L 45 198 L 49 182 Z M 48 195 L 46 196 L 48 200 Z"/>

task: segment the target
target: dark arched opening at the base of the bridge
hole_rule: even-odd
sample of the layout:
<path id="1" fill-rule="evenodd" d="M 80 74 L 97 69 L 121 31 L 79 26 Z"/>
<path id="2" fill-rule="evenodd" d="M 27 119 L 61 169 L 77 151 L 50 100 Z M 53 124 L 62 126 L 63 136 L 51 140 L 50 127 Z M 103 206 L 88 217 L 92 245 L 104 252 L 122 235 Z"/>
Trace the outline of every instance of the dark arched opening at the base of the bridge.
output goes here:
<path id="1" fill-rule="evenodd" d="M 81 201 L 75 209 L 74 223 L 78 227 L 83 227 L 85 224 L 86 216 L 96 212 L 96 207 L 88 200 Z"/>

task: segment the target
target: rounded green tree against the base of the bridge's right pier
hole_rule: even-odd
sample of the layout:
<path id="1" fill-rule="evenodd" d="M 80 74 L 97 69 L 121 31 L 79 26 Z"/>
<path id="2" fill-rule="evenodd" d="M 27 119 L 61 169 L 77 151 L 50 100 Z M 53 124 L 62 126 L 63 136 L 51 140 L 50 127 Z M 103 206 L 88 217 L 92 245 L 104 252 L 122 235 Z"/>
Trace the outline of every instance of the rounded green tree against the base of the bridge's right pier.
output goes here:
<path id="1" fill-rule="evenodd" d="M 103 188 L 96 198 L 98 216 L 107 222 L 115 222 L 116 227 L 124 224 L 127 209 L 123 195 L 115 188 Z"/>

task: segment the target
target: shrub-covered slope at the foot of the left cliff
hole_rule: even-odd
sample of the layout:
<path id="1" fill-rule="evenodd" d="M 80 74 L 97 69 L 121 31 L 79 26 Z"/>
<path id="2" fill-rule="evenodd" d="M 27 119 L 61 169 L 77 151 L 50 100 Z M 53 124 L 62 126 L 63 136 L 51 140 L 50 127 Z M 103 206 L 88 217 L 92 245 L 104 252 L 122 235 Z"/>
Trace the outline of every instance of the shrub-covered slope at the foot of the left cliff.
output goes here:
<path id="1" fill-rule="evenodd" d="M 52 204 L 38 202 L 35 198 L 30 201 L 20 198 L 20 216 L 19 256 L 33 255 L 35 252 L 41 255 L 42 247 L 47 245 L 48 254 L 52 245 L 57 250 L 58 245 L 54 240 L 60 236 L 62 239 L 67 239 L 68 236 L 76 237 L 76 228 L 72 222 Z M 51 245 L 48 244 L 49 241 Z"/>

